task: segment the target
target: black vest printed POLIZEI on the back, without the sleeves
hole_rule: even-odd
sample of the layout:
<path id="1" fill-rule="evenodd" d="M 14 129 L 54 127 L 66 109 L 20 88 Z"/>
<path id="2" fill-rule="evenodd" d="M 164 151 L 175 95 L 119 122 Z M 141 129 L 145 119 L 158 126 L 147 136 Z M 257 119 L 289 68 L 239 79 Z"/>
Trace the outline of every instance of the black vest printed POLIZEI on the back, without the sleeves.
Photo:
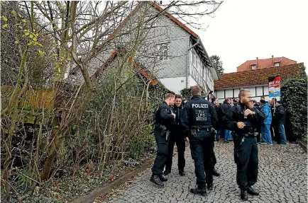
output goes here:
<path id="1" fill-rule="evenodd" d="M 192 128 L 211 127 L 211 114 L 209 112 L 208 100 L 195 99 L 189 100 L 189 125 Z"/>

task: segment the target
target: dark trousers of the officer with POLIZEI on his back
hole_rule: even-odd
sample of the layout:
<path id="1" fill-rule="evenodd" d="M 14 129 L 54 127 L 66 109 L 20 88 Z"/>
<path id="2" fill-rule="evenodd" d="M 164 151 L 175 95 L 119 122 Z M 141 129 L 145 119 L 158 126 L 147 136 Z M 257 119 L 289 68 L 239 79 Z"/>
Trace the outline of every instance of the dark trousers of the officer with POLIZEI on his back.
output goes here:
<path id="1" fill-rule="evenodd" d="M 197 176 L 197 185 L 206 187 L 206 183 L 213 183 L 212 163 L 213 141 L 211 132 L 207 130 L 197 132 L 197 136 L 189 137 L 190 152 L 194 160 L 194 173 Z M 205 171 L 205 175 L 204 175 Z"/>

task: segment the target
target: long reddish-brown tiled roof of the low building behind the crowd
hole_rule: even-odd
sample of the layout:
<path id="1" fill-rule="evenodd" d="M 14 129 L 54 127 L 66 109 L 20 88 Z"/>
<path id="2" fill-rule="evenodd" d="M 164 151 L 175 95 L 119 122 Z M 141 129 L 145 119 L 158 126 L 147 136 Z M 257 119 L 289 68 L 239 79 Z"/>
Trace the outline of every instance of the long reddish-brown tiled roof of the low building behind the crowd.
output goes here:
<path id="1" fill-rule="evenodd" d="M 241 71 L 231 74 L 220 75 L 219 81 L 214 81 L 214 89 L 239 88 L 248 86 L 265 85 L 268 83 L 269 76 L 281 76 L 281 81 L 296 76 L 298 71 L 303 72 L 303 63 L 291 64 L 287 66 L 269 67 L 250 71 Z"/>

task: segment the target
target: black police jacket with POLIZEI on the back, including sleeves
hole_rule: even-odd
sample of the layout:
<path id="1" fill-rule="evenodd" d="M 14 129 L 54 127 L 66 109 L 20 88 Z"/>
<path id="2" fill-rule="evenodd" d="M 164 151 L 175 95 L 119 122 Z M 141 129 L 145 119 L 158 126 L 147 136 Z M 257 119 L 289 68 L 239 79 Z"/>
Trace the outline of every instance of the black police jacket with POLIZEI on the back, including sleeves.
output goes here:
<path id="1" fill-rule="evenodd" d="M 199 95 L 194 95 L 191 100 L 185 103 L 180 125 L 188 129 L 204 129 L 214 127 L 217 129 L 218 119 L 213 105 Z"/>

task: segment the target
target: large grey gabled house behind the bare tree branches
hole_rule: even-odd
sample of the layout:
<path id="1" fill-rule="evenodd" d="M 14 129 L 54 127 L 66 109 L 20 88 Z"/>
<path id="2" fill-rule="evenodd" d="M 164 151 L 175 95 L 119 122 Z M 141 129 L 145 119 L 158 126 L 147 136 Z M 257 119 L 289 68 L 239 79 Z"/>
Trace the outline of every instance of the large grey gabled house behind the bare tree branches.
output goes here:
<path id="1" fill-rule="evenodd" d="M 135 42 L 137 34 L 133 25 L 141 21 L 141 13 L 144 18 L 144 13 L 156 16 L 161 11 L 163 8 L 150 1 L 143 1 L 137 6 L 109 36 L 113 43 L 110 49 L 97 50 L 89 60 L 87 66 L 90 76 L 104 65 L 116 47 L 129 47 Z M 145 16 L 145 20 L 151 16 Z M 136 60 L 175 93 L 195 85 L 202 86 L 206 92 L 214 91 L 214 80 L 219 79 L 219 74 L 211 64 L 199 36 L 168 13 L 157 19 L 154 17 L 153 22 L 144 25 L 149 33 L 138 47 Z M 70 74 L 74 74 L 77 81 L 83 82 L 79 71 L 71 71 Z"/>

